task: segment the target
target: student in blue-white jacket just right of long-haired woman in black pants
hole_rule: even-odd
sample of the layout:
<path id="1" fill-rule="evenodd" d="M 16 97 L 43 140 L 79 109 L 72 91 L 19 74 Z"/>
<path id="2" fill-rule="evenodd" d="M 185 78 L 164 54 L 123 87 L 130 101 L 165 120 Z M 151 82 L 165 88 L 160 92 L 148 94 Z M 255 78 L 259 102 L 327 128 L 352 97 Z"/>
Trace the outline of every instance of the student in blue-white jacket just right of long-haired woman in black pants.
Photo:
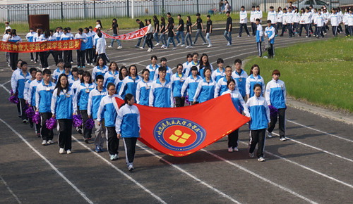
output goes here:
<path id="1" fill-rule="evenodd" d="M 86 127 L 86 121 L 88 120 L 88 96 L 90 95 L 90 91 L 95 89 L 96 85 L 92 82 L 92 77 L 88 71 L 83 72 L 80 82 L 76 90 L 76 100 L 79 113 L 82 115 L 83 139 L 88 144 L 92 134 L 92 129 Z"/>

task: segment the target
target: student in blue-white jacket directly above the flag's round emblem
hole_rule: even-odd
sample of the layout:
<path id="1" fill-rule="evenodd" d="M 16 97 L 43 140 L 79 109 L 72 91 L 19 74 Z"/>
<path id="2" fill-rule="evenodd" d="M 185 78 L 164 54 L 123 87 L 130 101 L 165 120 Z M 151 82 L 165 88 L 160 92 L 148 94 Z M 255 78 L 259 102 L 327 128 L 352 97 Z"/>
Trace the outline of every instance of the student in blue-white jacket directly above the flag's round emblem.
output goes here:
<path id="1" fill-rule="evenodd" d="M 183 87 L 186 75 L 183 73 L 183 65 L 177 65 L 177 73 L 172 75 L 170 82 L 172 82 L 172 90 L 175 101 L 175 107 L 184 107 L 186 96 L 185 94 L 181 97 L 181 87 Z"/>

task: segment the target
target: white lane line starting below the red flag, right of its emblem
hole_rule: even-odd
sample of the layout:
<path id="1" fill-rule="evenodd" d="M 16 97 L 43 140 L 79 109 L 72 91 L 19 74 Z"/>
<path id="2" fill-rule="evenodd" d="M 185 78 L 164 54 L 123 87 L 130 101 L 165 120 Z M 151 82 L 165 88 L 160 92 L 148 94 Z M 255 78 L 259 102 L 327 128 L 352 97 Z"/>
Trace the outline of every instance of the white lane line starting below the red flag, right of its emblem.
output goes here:
<path id="1" fill-rule="evenodd" d="M 216 155 L 215 153 L 211 153 L 211 152 L 209 152 L 209 151 L 207 151 L 207 150 L 205 150 L 205 149 L 201 149 L 201 151 L 204 151 L 205 153 L 208 153 L 209 155 L 212 155 L 213 157 L 215 157 L 215 158 L 217 158 L 217 159 L 219 159 L 219 160 L 222 160 L 222 161 L 224 161 L 224 162 L 227 162 L 229 165 L 232 165 L 232 166 L 234 166 L 234 167 L 237 167 L 237 168 L 239 168 L 240 170 L 243 170 L 244 172 L 249 173 L 249 174 L 253 175 L 254 177 L 257 177 L 258 179 L 261 179 L 261 180 L 263 180 L 263 181 L 268 182 L 269 184 L 272 184 L 273 186 L 276 186 L 276 187 L 278 187 L 278 188 L 280 188 L 280 189 L 282 189 L 282 190 L 284 190 L 284 191 L 287 191 L 288 193 L 291 193 L 291 194 L 294 195 L 294 196 L 297 196 L 297 197 L 299 197 L 299 198 L 301 198 L 301 199 L 303 199 L 303 200 L 306 200 L 306 201 L 308 201 L 309 203 L 316 203 L 315 201 L 310 200 L 309 198 L 306 198 L 306 197 L 304 197 L 304 196 L 301 196 L 299 193 L 296 193 L 296 192 L 292 191 L 291 189 L 286 188 L 285 186 L 281 186 L 280 184 L 276 184 L 275 182 L 270 181 L 269 179 L 266 179 L 265 177 L 261 177 L 259 174 L 256 174 L 255 172 L 252 172 L 251 170 L 248 170 L 248 169 L 246 169 L 245 167 L 242 167 L 241 165 L 237 165 L 237 164 L 234 163 L 234 162 L 231 162 L 231 161 L 229 161 L 229 160 L 227 160 L 227 159 L 225 159 L 225 158 L 222 158 L 221 156 Z"/>

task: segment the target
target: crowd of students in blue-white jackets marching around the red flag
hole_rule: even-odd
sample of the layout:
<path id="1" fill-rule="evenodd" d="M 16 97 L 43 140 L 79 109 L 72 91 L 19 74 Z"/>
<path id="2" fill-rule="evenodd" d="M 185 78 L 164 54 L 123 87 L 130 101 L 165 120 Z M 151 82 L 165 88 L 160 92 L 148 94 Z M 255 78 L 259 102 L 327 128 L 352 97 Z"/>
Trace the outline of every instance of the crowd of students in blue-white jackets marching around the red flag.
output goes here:
<path id="1" fill-rule="evenodd" d="M 264 160 L 263 146 L 265 132 L 268 136 L 277 122 L 270 118 L 268 106 L 278 109 L 280 117 L 280 140 L 285 141 L 285 83 L 280 79 L 280 72 L 273 71 L 273 80 L 265 87 L 258 65 L 253 65 L 250 75 L 241 69 L 241 60 L 234 61 L 235 70 L 225 66 L 222 58 L 217 59 L 217 68 L 208 61 L 208 55 L 189 53 L 185 63 L 175 67 L 167 64 L 167 58 L 151 56 L 151 63 L 138 75 L 136 65 L 128 68 L 111 62 L 104 65 L 103 59 L 97 58 L 97 66 L 91 72 L 72 68 L 71 63 L 58 61 L 58 68 L 37 70 L 30 68 L 25 61 L 18 60 L 17 69 L 11 77 L 13 94 L 18 94 L 18 116 L 23 123 L 30 123 L 37 136 L 42 138 L 42 145 L 54 144 L 54 132 L 46 126 L 46 120 L 54 117 L 58 122 L 59 153 L 71 153 L 71 131 L 73 115 L 82 116 L 83 125 L 78 133 L 83 134 L 86 143 L 92 139 L 92 129 L 86 124 L 89 118 L 95 120 L 95 151 L 102 152 L 104 141 L 110 159 L 118 159 L 119 139 L 123 138 L 126 149 L 128 169 L 133 170 L 133 155 L 136 139 L 140 132 L 140 115 L 134 103 L 159 108 L 196 105 L 224 94 L 230 94 L 234 107 L 239 113 L 251 118 L 251 141 L 249 153 L 258 144 L 257 157 Z M 117 106 L 115 97 L 124 98 L 125 105 Z M 187 99 L 189 98 L 189 99 Z M 247 101 L 245 103 L 245 101 Z M 26 106 L 40 113 L 41 123 L 33 124 L 25 114 Z M 230 108 L 230 107 L 227 107 Z M 229 134 L 228 151 L 238 151 L 238 130 Z"/>

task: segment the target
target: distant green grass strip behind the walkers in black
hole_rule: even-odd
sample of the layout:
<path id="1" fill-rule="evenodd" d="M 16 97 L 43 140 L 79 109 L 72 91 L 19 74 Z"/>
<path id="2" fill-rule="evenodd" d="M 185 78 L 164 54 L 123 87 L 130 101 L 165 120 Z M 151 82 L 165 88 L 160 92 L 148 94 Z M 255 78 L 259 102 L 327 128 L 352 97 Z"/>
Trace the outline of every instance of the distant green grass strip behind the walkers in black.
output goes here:
<path id="1" fill-rule="evenodd" d="M 182 18 L 184 19 L 184 23 L 186 23 L 186 14 L 182 15 Z M 161 16 L 157 16 L 158 19 L 160 19 Z M 195 23 L 196 21 L 196 15 L 192 14 L 190 15 L 191 17 L 191 22 Z M 233 23 L 239 23 L 239 13 L 232 13 L 231 17 L 233 19 Z M 104 27 L 104 30 L 107 30 L 108 28 L 110 28 L 112 26 L 112 18 L 100 18 L 100 20 L 102 21 L 102 25 Z M 140 16 L 137 17 L 140 20 L 145 20 L 145 19 L 152 19 L 152 16 Z M 131 19 L 131 18 L 116 18 L 118 20 L 118 24 L 119 24 L 119 29 L 121 30 L 129 30 L 129 29 L 137 29 L 138 25 L 136 24 L 136 19 Z M 177 23 L 177 16 L 173 16 L 174 21 Z M 206 21 L 206 15 L 201 15 L 201 18 L 203 19 L 203 21 Z M 263 14 L 263 19 L 267 19 L 267 13 Z M 71 30 L 73 30 L 73 32 L 76 32 L 76 30 L 78 30 L 78 28 L 82 27 L 88 27 L 88 26 L 92 26 L 95 27 L 95 20 L 96 19 L 78 19 L 78 20 L 50 20 L 50 29 L 54 30 L 55 27 L 71 27 Z M 227 21 L 227 16 L 225 14 L 215 14 L 215 15 L 211 15 L 211 20 L 213 21 L 213 23 L 225 23 Z M 11 23 L 10 22 L 10 26 L 13 29 L 17 30 L 18 34 L 26 34 L 28 32 L 29 29 L 29 25 L 28 23 Z M 205 25 L 204 25 L 205 26 Z M 5 30 L 5 25 L 4 23 L 1 23 L 0 25 L 0 30 Z"/>

